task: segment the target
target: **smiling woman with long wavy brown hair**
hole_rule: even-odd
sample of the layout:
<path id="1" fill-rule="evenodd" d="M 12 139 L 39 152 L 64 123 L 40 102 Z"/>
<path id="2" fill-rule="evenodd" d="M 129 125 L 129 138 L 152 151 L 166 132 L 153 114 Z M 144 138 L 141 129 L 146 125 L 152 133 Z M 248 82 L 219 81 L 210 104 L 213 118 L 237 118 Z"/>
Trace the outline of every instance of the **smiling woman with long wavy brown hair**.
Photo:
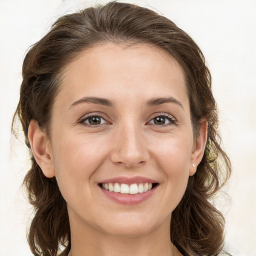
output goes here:
<path id="1" fill-rule="evenodd" d="M 230 175 L 211 77 L 169 19 L 110 2 L 59 18 L 28 51 L 16 116 L 34 255 L 218 255 Z"/>

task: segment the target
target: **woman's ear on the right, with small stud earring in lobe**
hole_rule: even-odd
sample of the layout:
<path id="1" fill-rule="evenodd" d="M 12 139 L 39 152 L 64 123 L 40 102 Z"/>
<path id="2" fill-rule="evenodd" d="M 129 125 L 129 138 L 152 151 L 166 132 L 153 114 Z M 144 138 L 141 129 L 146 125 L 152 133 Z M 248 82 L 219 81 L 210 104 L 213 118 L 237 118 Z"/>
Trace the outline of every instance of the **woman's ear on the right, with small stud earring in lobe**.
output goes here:
<path id="1" fill-rule="evenodd" d="M 205 119 L 201 119 L 200 131 L 197 137 L 195 138 L 193 149 L 191 152 L 190 164 L 189 164 L 189 176 L 192 176 L 195 173 L 196 166 L 200 163 L 202 159 L 206 140 L 207 140 L 207 126 L 208 126 L 207 121 Z"/>

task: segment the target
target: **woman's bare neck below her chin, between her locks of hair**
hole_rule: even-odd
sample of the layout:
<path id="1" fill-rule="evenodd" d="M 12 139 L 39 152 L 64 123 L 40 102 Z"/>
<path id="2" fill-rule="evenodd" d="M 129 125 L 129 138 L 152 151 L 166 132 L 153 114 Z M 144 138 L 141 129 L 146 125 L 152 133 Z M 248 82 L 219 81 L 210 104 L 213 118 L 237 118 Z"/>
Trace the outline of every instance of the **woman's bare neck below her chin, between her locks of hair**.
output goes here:
<path id="1" fill-rule="evenodd" d="M 121 236 L 70 221 L 71 251 L 68 256 L 180 256 L 170 241 L 169 223 L 170 218 L 144 234 Z"/>

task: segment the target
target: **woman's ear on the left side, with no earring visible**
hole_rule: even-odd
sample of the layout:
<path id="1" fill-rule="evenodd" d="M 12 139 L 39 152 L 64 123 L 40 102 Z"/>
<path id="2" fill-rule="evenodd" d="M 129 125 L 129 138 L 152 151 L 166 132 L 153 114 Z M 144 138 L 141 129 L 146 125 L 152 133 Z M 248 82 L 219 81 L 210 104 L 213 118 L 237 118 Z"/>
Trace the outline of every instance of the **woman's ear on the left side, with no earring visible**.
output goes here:
<path id="1" fill-rule="evenodd" d="M 40 129 L 36 120 L 30 121 L 27 135 L 34 159 L 40 166 L 43 174 L 48 178 L 53 177 L 55 172 L 50 142 L 46 134 Z"/>

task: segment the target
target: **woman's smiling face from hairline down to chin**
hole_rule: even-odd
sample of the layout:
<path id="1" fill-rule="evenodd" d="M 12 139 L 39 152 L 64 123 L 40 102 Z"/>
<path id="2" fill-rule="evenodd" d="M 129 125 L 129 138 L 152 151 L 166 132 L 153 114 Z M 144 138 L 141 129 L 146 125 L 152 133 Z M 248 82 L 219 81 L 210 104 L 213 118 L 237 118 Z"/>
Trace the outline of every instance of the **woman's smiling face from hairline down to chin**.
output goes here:
<path id="1" fill-rule="evenodd" d="M 84 50 L 65 67 L 50 132 L 44 173 L 56 176 L 71 229 L 140 235 L 169 226 L 197 150 L 172 56 L 145 44 Z"/>

